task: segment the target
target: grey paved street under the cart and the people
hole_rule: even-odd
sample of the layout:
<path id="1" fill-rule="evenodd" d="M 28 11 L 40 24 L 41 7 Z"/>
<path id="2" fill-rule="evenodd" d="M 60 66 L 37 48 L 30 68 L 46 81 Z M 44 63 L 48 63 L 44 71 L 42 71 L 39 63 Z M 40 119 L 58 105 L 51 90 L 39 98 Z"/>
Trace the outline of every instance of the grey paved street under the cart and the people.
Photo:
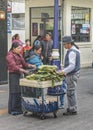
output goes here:
<path id="1" fill-rule="evenodd" d="M 77 91 L 78 115 L 63 116 L 64 110 L 60 109 L 58 118 L 54 118 L 51 113 L 47 115 L 47 119 L 40 120 L 30 113 L 26 117 L 9 115 L 8 85 L 1 85 L 0 130 L 93 130 L 93 68 L 81 70 Z"/>

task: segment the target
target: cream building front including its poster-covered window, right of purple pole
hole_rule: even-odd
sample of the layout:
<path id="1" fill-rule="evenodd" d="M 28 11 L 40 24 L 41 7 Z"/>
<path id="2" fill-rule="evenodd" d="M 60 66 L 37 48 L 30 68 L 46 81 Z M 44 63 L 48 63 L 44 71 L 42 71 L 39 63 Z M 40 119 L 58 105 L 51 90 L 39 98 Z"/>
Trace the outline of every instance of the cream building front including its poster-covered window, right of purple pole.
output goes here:
<path id="1" fill-rule="evenodd" d="M 66 0 L 64 4 L 64 34 L 72 35 L 81 52 L 81 66 L 93 60 L 93 1 Z"/>

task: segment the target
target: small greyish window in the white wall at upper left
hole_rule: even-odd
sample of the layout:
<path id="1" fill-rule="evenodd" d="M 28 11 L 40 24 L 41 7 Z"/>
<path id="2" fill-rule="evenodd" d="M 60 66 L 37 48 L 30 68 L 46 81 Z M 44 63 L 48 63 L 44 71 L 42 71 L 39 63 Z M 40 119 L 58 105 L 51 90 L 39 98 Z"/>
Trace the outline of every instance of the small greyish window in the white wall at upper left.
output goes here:
<path id="1" fill-rule="evenodd" d="M 12 14 L 12 30 L 25 29 L 25 14 Z"/>

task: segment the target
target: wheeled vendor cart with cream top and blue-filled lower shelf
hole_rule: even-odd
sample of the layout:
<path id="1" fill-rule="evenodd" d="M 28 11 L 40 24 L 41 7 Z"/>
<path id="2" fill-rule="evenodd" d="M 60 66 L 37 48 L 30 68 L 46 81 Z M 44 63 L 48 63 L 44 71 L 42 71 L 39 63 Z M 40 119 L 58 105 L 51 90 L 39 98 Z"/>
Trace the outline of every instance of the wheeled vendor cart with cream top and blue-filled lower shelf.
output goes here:
<path id="1" fill-rule="evenodd" d="M 55 82 L 55 86 L 59 86 L 62 84 L 61 82 Z M 53 113 L 54 117 L 56 118 L 57 111 L 58 111 L 58 96 L 54 100 L 50 97 L 47 100 L 45 95 L 45 89 L 49 87 L 54 87 L 52 84 L 52 80 L 46 81 L 37 81 L 37 80 L 28 80 L 26 78 L 20 79 L 20 86 L 21 88 L 36 88 L 41 90 L 41 93 L 36 95 L 26 95 L 27 97 L 31 97 L 33 101 L 25 100 L 24 93 L 22 91 L 22 108 L 23 113 L 26 114 L 27 112 L 32 112 L 35 115 L 39 115 L 40 119 L 45 119 L 47 113 Z M 22 90 L 22 89 L 21 89 Z M 41 98 L 39 98 L 41 96 Z"/>

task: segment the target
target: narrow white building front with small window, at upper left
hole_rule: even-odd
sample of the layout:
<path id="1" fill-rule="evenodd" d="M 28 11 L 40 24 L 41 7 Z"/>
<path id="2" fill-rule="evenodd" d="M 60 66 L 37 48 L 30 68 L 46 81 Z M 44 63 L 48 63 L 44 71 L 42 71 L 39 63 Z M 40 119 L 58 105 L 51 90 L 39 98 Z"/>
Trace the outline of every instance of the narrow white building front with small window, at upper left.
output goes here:
<path id="1" fill-rule="evenodd" d="M 20 39 L 25 42 L 25 1 L 12 1 L 11 17 L 12 36 L 18 33 Z"/>

